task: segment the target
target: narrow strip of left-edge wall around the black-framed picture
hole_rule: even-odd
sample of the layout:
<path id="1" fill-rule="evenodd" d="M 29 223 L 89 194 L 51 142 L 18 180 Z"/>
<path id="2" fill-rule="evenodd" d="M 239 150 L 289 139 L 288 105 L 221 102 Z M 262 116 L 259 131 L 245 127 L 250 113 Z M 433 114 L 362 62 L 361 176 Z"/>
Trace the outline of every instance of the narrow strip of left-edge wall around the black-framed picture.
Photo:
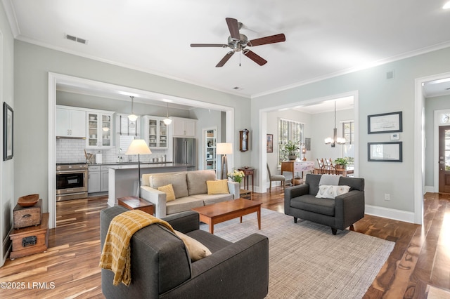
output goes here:
<path id="1" fill-rule="evenodd" d="M 14 117 L 17 115 L 15 111 L 14 100 L 14 39 L 8 21 L 5 15 L 4 7 L 0 5 L 0 132 L 3 136 L 3 103 L 8 103 L 14 110 Z M 14 119 L 14 125 L 17 124 L 17 119 Z M 13 133 L 14 139 L 14 157 L 11 160 L 3 161 L 3 137 L 1 138 L 1 162 L 0 162 L 0 266 L 5 263 L 8 257 L 8 248 L 11 247 L 9 239 L 10 230 L 13 229 L 13 208 L 16 203 L 15 196 L 18 193 L 14 192 L 14 164 L 16 144 L 15 140 L 18 138 L 17 131 Z"/>

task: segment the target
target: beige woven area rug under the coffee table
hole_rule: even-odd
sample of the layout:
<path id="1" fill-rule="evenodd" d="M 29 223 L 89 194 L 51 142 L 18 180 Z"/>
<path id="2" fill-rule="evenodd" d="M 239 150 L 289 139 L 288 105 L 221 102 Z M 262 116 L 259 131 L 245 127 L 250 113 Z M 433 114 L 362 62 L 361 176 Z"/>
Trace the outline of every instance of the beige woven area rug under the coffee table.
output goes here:
<path id="1" fill-rule="evenodd" d="M 201 224 L 202 230 L 208 230 Z M 390 255 L 394 242 L 348 230 L 333 236 L 330 227 L 262 208 L 256 213 L 214 225 L 229 241 L 252 233 L 269 237 L 267 298 L 362 298 Z"/>

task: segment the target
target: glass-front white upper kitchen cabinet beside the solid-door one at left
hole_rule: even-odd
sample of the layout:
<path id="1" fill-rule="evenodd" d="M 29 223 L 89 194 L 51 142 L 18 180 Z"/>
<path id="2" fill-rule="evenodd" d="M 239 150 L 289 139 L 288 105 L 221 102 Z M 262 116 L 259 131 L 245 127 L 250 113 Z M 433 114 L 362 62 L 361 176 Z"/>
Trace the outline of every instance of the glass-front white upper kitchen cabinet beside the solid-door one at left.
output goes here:
<path id="1" fill-rule="evenodd" d="M 113 147 L 113 116 L 114 112 L 87 113 L 86 148 Z"/>

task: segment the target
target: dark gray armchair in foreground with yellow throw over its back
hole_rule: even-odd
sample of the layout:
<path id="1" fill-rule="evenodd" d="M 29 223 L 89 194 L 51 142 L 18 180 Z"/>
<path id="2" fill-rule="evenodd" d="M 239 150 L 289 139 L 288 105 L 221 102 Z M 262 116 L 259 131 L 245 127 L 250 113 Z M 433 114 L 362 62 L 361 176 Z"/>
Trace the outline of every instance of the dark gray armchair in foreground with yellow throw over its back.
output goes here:
<path id="1" fill-rule="evenodd" d="M 110 221 L 127 211 L 101 211 L 101 248 Z M 191 263 L 183 241 L 160 225 L 149 225 L 131 237 L 131 284 L 113 286 L 113 272 L 101 270 L 106 298 L 264 298 L 269 288 L 269 240 L 252 234 L 236 243 L 199 230 L 198 213 L 163 218 L 174 230 L 207 246 L 212 255 Z"/>

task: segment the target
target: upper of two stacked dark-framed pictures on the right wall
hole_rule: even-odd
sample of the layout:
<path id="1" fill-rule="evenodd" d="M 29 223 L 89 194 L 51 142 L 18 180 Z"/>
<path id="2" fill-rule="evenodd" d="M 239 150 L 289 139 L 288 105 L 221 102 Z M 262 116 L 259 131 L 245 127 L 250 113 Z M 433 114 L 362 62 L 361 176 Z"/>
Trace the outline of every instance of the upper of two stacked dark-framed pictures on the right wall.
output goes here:
<path id="1" fill-rule="evenodd" d="M 402 132 L 401 111 L 367 116 L 367 133 Z"/>

